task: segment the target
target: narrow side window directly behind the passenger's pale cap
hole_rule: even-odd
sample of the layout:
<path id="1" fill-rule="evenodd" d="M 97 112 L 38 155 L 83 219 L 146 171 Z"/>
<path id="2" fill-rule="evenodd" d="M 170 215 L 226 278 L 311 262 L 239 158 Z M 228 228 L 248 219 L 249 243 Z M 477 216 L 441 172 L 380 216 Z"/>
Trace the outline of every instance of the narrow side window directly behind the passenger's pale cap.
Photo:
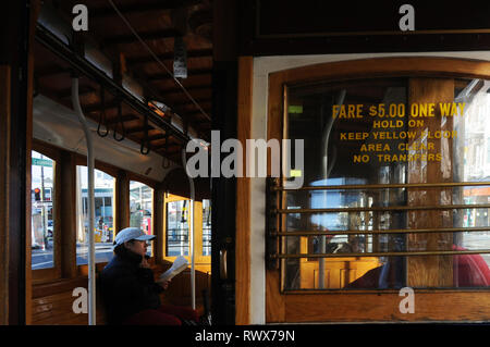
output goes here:
<path id="1" fill-rule="evenodd" d="M 147 185 L 130 181 L 130 226 L 139 227 L 148 235 L 154 235 L 154 189 Z M 151 255 L 149 243 L 148 255 Z"/>

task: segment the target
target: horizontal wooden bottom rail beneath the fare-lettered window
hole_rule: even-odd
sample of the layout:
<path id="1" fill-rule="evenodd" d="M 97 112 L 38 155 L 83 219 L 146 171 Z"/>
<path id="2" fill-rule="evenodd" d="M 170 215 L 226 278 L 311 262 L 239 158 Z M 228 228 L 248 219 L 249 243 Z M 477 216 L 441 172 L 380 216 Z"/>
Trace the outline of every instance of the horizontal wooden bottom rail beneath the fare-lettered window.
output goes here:
<path id="1" fill-rule="evenodd" d="M 490 311 L 487 309 L 490 305 L 490 292 L 418 293 L 415 289 L 414 313 L 400 312 L 400 301 L 403 298 L 397 293 L 289 295 L 284 305 L 285 321 L 298 323 L 490 320 Z"/>

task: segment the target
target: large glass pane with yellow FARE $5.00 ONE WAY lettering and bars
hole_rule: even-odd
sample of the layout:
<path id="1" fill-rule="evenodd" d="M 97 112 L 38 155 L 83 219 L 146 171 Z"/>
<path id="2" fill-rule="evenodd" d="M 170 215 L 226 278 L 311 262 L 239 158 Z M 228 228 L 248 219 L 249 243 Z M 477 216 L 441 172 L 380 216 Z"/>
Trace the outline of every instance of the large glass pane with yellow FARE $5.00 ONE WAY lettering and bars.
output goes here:
<path id="1" fill-rule="evenodd" d="M 282 238 L 283 287 L 490 286 L 490 188 L 478 186 L 490 182 L 489 87 L 454 78 L 289 86 L 287 138 L 304 139 L 313 189 L 284 193 L 282 231 L 296 235 Z M 305 231 L 319 234 L 297 236 Z"/>

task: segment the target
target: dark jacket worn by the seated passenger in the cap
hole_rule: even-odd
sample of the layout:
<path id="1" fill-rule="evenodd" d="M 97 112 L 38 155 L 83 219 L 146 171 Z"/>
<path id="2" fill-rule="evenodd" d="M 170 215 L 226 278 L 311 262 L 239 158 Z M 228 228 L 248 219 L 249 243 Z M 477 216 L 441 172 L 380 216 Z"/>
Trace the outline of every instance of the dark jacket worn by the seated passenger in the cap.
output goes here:
<path id="1" fill-rule="evenodd" d="M 108 324 L 121 324 L 131 315 L 158 308 L 163 288 L 150 269 L 139 268 L 142 256 L 114 256 L 100 273 L 100 290 Z"/>

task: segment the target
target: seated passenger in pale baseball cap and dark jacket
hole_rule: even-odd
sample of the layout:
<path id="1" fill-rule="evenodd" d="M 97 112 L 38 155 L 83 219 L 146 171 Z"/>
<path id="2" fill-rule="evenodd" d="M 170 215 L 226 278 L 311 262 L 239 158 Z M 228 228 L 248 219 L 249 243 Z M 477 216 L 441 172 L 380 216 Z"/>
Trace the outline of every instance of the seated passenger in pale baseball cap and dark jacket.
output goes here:
<path id="1" fill-rule="evenodd" d="M 198 321 L 195 310 L 161 305 L 159 294 L 169 283 L 156 283 L 146 260 L 146 241 L 155 237 L 137 227 L 126 227 L 115 236 L 114 257 L 100 273 L 109 324 L 181 325 L 182 320 Z"/>

